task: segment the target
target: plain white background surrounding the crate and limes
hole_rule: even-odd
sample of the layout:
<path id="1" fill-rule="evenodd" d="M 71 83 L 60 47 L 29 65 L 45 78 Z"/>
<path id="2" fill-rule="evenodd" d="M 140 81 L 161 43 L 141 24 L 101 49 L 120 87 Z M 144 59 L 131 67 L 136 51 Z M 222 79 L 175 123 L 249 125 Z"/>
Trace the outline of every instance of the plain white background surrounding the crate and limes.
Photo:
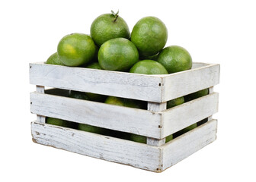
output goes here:
<path id="1" fill-rule="evenodd" d="M 1 1 L 0 180 L 255 181 L 255 8 L 245 0 Z M 141 17 L 158 17 L 168 27 L 167 45 L 221 65 L 217 140 L 161 174 L 31 140 L 29 62 L 46 61 L 62 36 L 89 34 L 95 17 L 118 9 L 130 30 Z"/>

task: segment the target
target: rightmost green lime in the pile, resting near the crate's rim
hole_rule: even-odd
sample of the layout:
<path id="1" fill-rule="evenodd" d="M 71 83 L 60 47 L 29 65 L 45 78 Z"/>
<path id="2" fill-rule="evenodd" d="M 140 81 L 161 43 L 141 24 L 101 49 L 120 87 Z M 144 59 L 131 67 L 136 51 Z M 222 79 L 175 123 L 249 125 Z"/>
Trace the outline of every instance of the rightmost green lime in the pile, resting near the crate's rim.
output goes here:
<path id="1" fill-rule="evenodd" d="M 192 67 L 192 58 L 189 52 L 178 45 L 162 49 L 157 61 L 166 68 L 169 74 L 189 70 Z"/>

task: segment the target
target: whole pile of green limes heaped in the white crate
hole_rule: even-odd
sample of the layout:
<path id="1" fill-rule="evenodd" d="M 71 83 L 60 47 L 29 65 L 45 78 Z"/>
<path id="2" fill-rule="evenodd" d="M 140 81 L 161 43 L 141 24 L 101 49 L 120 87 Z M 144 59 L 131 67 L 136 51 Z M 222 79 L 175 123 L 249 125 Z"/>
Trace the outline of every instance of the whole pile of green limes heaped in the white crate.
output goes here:
<path id="1" fill-rule="evenodd" d="M 118 12 L 111 12 L 111 14 L 102 14 L 92 22 L 90 35 L 72 33 L 64 36 L 59 41 L 57 52 L 47 59 L 46 64 L 125 71 L 134 74 L 173 74 L 192 67 L 192 58 L 186 49 L 178 45 L 165 47 L 168 30 L 162 20 L 157 17 L 143 17 L 130 33 L 126 21 Z M 208 89 L 203 92 L 208 94 Z M 167 107 L 181 105 L 197 95 L 200 93 L 171 100 L 167 103 Z M 147 107 L 146 102 L 94 93 L 71 91 L 70 97 L 132 108 Z M 54 123 L 54 119 L 48 120 L 50 124 Z M 65 127 L 69 125 L 66 121 L 57 121 L 58 124 L 64 124 Z M 86 124 L 78 124 L 78 129 L 94 131 L 94 133 L 103 131 Z M 172 135 L 168 136 L 167 141 L 172 138 Z M 130 140 L 146 143 L 146 137 L 133 134 Z"/>

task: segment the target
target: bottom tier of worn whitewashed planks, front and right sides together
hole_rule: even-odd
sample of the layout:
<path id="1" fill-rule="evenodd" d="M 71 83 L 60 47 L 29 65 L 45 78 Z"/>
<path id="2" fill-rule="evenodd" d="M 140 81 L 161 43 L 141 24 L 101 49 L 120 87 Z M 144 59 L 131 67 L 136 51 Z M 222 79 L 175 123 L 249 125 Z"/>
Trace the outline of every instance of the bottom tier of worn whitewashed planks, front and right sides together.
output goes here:
<path id="1" fill-rule="evenodd" d="M 31 123 L 31 133 L 35 143 L 162 172 L 216 140 L 216 126 L 208 121 L 159 147 L 38 122 Z"/>

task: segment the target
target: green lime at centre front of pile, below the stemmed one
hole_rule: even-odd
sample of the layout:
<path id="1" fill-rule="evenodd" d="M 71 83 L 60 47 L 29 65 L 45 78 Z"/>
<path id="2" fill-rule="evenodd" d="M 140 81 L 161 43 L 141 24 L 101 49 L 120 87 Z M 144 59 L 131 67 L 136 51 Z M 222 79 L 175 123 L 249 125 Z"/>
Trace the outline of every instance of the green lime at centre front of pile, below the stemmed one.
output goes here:
<path id="1" fill-rule="evenodd" d="M 110 39 L 101 45 L 98 61 L 104 70 L 127 71 L 139 61 L 139 52 L 128 39 Z"/>

